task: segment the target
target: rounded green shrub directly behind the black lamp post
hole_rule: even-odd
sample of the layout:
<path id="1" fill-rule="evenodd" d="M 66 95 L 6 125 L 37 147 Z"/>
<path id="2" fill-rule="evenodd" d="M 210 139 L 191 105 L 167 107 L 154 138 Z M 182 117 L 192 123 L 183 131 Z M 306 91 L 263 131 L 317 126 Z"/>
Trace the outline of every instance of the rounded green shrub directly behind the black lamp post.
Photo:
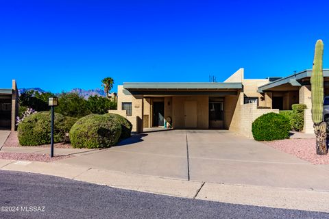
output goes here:
<path id="1" fill-rule="evenodd" d="M 53 129 L 54 142 L 63 142 L 65 136 L 65 118 L 61 114 L 55 114 Z M 50 144 L 51 113 L 38 112 L 27 116 L 19 123 L 19 144 L 23 146 L 36 146 Z"/>

